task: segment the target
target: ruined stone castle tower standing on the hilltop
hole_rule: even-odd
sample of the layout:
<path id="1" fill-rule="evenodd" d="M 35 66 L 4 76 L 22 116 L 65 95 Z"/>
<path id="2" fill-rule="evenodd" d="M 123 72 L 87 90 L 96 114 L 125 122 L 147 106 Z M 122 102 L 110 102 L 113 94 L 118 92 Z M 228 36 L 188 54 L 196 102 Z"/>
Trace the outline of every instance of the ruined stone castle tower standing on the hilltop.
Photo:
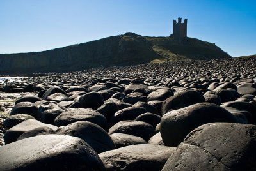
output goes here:
<path id="1" fill-rule="evenodd" d="M 182 40 L 182 38 L 187 37 L 187 22 L 188 19 L 185 19 L 184 22 L 181 22 L 181 18 L 178 18 L 178 23 L 176 20 L 173 20 L 173 34 L 171 36 L 177 40 Z"/>

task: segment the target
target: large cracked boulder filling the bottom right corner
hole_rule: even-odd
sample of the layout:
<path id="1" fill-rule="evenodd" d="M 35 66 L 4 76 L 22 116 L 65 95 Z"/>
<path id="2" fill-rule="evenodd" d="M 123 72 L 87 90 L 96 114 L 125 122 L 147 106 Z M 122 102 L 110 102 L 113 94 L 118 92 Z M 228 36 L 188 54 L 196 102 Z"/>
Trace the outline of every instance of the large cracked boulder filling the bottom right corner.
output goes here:
<path id="1" fill-rule="evenodd" d="M 254 170 L 255 130 L 250 124 L 204 124 L 189 133 L 163 171 Z"/>

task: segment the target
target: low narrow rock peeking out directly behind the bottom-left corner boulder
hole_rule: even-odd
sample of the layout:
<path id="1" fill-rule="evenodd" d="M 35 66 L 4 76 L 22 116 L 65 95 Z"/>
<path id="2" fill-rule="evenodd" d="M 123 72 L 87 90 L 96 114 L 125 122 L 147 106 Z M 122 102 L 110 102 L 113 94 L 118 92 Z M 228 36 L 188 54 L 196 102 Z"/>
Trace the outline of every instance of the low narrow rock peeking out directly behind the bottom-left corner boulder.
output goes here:
<path id="1" fill-rule="evenodd" d="M 38 135 L 47 135 L 47 134 L 54 134 L 56 133 L 52 128 L 49 128 L 48 126 L 42 126 L 35 128 L 33 130 L 26 131 L 20 135 L 20 137 L 17 138 L 17 140 L 23 140 L 25 138 L 29 137 L 35 137 Z"/>

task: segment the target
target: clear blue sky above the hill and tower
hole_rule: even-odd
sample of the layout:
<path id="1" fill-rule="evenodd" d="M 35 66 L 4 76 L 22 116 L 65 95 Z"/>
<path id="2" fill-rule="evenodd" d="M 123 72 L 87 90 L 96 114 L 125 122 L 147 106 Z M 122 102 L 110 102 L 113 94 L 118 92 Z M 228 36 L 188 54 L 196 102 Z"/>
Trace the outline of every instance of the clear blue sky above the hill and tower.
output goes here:
<path id="1" fill-rule="evenodd" d="M 255 0 L 0 0 L 0 53 L 37 52 L 133 32 L 188 36 L 230 56 L 256 54 Z"/>

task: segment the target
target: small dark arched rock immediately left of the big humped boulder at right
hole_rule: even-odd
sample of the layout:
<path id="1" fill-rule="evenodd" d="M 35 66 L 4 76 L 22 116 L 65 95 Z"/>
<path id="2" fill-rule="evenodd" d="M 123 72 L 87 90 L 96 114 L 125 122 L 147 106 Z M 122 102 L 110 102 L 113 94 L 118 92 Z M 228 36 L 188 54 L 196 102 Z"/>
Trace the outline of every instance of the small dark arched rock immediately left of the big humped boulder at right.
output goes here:
<path id="1" fill-rule="evenodd" d="M 151 124 L 154 128 L 156 128 L 157 124 L 159 124 L 161 121 L 161 117 L 159 115 L 147 112 L 145 114 L 139 115 L 134 120 L 135 121 L 143 121 L 145 123 Z"/>

